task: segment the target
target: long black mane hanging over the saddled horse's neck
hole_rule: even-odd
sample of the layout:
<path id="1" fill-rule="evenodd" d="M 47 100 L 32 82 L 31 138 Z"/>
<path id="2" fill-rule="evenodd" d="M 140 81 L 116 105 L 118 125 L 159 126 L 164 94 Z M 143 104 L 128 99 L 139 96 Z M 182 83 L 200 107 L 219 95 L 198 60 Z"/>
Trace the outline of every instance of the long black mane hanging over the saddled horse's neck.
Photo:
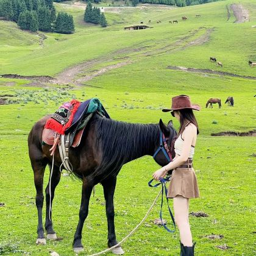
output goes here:
<path id="1" fill-rule="evenodd" d="M 126 123 L 98 115 L 94 116 L 93 123 L 97 148 L 102 151 L 102 164 L 96 170 L 97 174 L 107 171 L 107 176 L 118 172 L 124 163 L 154 153 L 151 151 L 154 151 L 154 145 L 159 139 L 158 124 Z"/>

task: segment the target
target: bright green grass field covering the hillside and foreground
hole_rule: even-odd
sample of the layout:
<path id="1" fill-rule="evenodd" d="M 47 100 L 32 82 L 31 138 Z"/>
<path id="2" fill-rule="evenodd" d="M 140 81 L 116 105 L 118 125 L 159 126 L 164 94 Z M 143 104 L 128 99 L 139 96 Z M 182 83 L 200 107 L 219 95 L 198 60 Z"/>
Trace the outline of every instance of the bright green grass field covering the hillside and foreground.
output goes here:
<path id="1" fill-rule="evenodd" d="M 0 203 L 5 204 L 0 207 L 0 254 L 49 255 L 55 251 L 74 255 L 72 241 L 79 219 L 81 183 L 71 177 L 62 177 L 53 204 L 54 229 L 63 240 L 47 241 L 46 246 L 35 244 L 37 210 L 27 135 L 38 119 L 71 98 L 84 101 L 97 97 L 113 119 L 158 123 L 162 118 L 167 123 L 172 117 L 161 109 L 169 107 L 172 96 L 188 94 L 202 107 L 196 113 L 200 134 L 194 156 L 201 198 L 191 200 L 190 212 L 208 215 L 190 216 L 196 255 L 255 255 L 255 137 L 212 137 L 211 133 L 256 129 L 256 80 L 191 73 L 168 66 L 256 77 L 256 67 L 247 63 L 256 60 L 256 28 L 252 27 L 256 25 L 256 2 L 227 0 L 183 8 L 106 7 L 109 26 L 105 29 L 85 24 L 84 10 L 70 3 L 55 3 L 55 7 L 74 16 L 75 33 L 44 33 L 47 38 L 41 44 L 37 34 L 22 31 L 10 21 L 0 21 L 0 75 L 58 77 L 85 62 L 90 65 L 80 69 L 73 79 L 92 76 L 80 85 L 31 85 L 30 80 L 0 77 L 0 98 L 11 103 L 0 105 Z M 248 10 L 249 21 L 234 23 L 236 18 L 230 10 L 233 3 Z M 108 2 L 102 6 L 108 6 Z M 188 20 L 182 21 L 182 16 Z M 123 30 L 124 26 L 148 20 L 151 29 Z M 169 24 L 173 20 L 179 23 Z M 210 62 L 210 56 L 221 61 L 223 68 Z M 108 71 L 102 71 L 104 68 Z M 98 71 L 102 73 L 94 76 Z M 233 96 L 234 107 L 224 104 L 227 96 Z M 208 98 L 221 98 L 222 108 L 205 108 Z M 179 128 L 176 120 L 174 126 Z M 115 224 L 119 241 L 137 226 L 154 201 L 158 189 L 149 188 L 148 181 L 157 168 L 151 157 L 143 157 L 125 165 L 118 175 Z M 47 170 L 45 185 L 48 177 Z M 179 255 L 179 231 L 170 235 L 153 224 L 159 207 L 160 200 L 146 224 L 123 244 L 126 255 Z M 224 237 L 206 237 L 212 233 Z M 107 246 L 101 185 L 91 197 L 82 241 L 85 251 L 81 255 Z M 229 248 L 217 247 L 224 244 Z"/>

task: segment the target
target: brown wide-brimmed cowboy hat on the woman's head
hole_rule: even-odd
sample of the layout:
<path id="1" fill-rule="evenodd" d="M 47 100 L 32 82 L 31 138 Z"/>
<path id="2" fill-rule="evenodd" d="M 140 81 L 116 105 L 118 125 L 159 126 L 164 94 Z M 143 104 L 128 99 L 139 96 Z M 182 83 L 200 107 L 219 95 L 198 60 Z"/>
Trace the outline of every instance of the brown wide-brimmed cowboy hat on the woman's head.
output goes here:
<path id="1" fill-rule="evenodd" d="M 169 112 L 169 111 L 174 111 L 174 110 L 180 110 L 183 108 L 191 108 L 194 110 L 199 111 L 201 107 L 197 104 L 192 104 L 190 101 L 190 97 L 187 95 L 179 95 L 176 97 L 173 97 L 171 99 L 171 108 L 164 108 L 162 111 L 163 112 Z"/>

